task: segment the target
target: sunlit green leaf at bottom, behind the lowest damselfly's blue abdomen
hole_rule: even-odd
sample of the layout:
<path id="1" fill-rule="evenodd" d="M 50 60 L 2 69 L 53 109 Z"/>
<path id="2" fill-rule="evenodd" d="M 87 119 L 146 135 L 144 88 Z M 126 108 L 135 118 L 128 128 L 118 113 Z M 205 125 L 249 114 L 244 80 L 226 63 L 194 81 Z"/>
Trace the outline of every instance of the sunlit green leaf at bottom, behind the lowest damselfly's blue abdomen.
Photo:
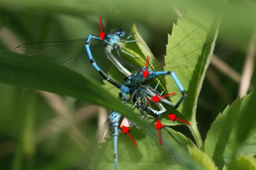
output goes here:
<path id="1" fill-rule="evenodd" d="M 159 147 L 158 141 L 153 141 L 148 135 L 142 134 L 140 130 L 131 128 L 130 135 L 136 140 L 138 146 L 134 145 L 129 136 L 120 134 L 118 137 L 118 168 L 120 170 L 143 170 L 150 167 L 152 170 L 164 169 L 171 170 L 174 167 L 183 169 L 182 165 L 170 159 L 171 155 L 164 153 L 163 148 Z M 107 141 L 103 158 L 99 163 L 99 170 L 113 170 L 114 164 L 112 137 Z M 168 160 L 170 159 L 170 160 Z M 97 163 L 97 162 L 96 162 Z"/>

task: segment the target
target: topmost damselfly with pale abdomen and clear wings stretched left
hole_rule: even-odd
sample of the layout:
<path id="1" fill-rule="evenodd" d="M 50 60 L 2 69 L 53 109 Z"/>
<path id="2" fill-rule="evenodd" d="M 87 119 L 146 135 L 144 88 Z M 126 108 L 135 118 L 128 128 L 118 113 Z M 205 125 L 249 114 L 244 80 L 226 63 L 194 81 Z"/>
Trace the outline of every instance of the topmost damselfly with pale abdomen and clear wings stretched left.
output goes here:
<path id="1" fill-rule="evenodd" d="M 29 54 L 29 55 L 38 55 L 38 54 L 45 54 L 55 51 L 62 51 L 73 49 L 80 46 L 85 46 L 86 43 L 90 43 L 91 41 L 98 41 L 99 43 L 95 45 L 91 50 L 98 48 L 99 46 L 105 46 L 105 51 L 107 53 L 112 53 L 112 51 L 116 51 L 118 53 L 118 57 L 121 58 L 119 51 L 128 54 L 131 57 L 135 57 L 134 55 L 130 54 L 127 51 L 124 51 L 120 45 L 120 43 L 132 43 L 136 42 L 136 40 L 131 40 L 131 36 L 129 35 L 129 28 L 130 26 L 123 22 L 118 29 L 109 32 L 107 28 L 106 22 L 106 34 L 103 40 L 94 35 L 89 35 L 88 38 L 81 38 L 76 40 L 70 41 L 52 41 L 52 42 L 37 42 L 37 43 L 29 43 L 17 46 L 15 48 L 16 52 Z M 107 58 L 126 76 L 129 75 L 129 71 L 123 67 L 120 62 L 118 62 L 117 58 L 114 55 L 106 55 Z M 136 57 L 135 57 L 136 58 Z M 70 67 L 70 68 L 77 68 L 83 61 L 85 61 L 85 48 L 84 51 L 80 52 L 73 58 L 70 58 L 61 63 L 61 65 Z"/>

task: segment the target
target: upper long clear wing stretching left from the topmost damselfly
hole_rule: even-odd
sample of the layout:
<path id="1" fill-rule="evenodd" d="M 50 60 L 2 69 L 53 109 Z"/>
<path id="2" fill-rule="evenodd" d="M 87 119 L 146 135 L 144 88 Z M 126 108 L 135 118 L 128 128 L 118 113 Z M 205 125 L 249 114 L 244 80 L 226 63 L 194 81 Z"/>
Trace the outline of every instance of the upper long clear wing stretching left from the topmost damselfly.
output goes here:
<path id="1" fill-rule="evenodd" d="M 28 55 L 46 54 L 50 52 L 76 48 L 84 45 L 86 41 L 87 38 L 81 38 L 70 41 L 36 42 L 17 46 L 15 48 L 15 51 L 18 53 Z"/>

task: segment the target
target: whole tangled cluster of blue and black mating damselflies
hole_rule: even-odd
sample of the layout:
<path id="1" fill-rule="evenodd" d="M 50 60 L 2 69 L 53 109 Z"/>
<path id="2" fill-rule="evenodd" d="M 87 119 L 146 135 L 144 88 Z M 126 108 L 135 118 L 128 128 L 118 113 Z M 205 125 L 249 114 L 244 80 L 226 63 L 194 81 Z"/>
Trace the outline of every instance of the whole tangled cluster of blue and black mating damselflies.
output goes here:
<path id="1" fill-rule="evenodd" d="M 204 29 L 202 25 L 198 25 L 197 29 Z M 197 34 L 195 30 L 192 30 L 190 34 Z M 121 59 L 120 52 L 128 54 L 130 57 L 135 60 L 141 60 L 141 58 L 145 56 L 135 56 L 127 51 L 124 51 L 121 47 L 121 43 L 135 43 L 138 40 L 130 38 L 132 37 L 130 34 L 125 36 L 127 32 L 123 31 L 121 28 L 118 28 L 116 31 L 107 33 L 102 40 L 98 36 L 89 35 L 88 38 L 83 38 L 79 40 L 73 41 L 62 41 L 62 42 L 44 42 L 44 43 L 33 43 L 33 44 L 25 44 L 18 46 L 16 51 L 21 53 L 28 54 L 39 54 L 39 53 L 47 53 L 59 50 L 66 50 L 70 48 L 74 48 L 77 46 L 85 46 L 86 52 L 90 59 L 92 66 L 99 72 L 99 74 L 110 84 L 114 85 L 119 89 L 119 97 L 124 103 L 124 106 L 130 107 L 132 110 L 137 110 L 143 119 L 150 122 L 150 120 L 159 119 L 162 115 L 167 112 L 166 107 L 177 108 L 179 104 L 183 101 L 185 96 L 185 89 L 177 79 L 177 76 L 174 72 L 169 70 L 164 70 L 164 65 L 173 65 L 173 67 L 178 69 L 193 70 L 193 65 L 198 63 L 198 59 L 191 57 L 192 55 L 187 55 L 187 57 L 181 56 L 176 58 L 162 58 L 162 59 L 153 59 L 149 62 L 150 68 L 139 66 L 138 70 L 134 70 L 133 73 L 123 66 L 123 59 Z M 187 41 L 189 41 L 189 36 L 184 37 L 176 46 L 170 48 L 166 53 L 172 51 L 173 49 L 179 48 L 179 46 L 183 46 Z M 120 70 L 121 73 L 126 75 L 124 79 L 124 84 L 120 84 L 112 79 L 108 74 L 106 74 L 96 63 L 93 55 L 92 49 L 90 47 L 91 41 L 96 40 L 101 44 L 106 45 L 105 53 L 106 56 L 111 60 L 112 63 Z M 139 42 L 138 42 L 139 43 Z M 197 42 L 195 43 L 195 47 L 197 47 Z M 97 47 L 97 46 L 96 46 Z M 113 54 L 113 51 L 116 52 L 117 57 Z M 120 52 L 119 52 L 120 51 Z M 150 56 L 151 57 L 151 56 Z M 79 55 L 63 62 L 63 65 L 77 67 L 81 62 L 85 60 L 85 53 L 82 52 Z M 158 62 L 158 60 L 160 62 Z M 183 60 L 186 60 L 186 65 L 183 66 Z M 189 64 L 188 64 L 189 63 Z M 183 67 L 183 68 L 182 68 Z M 149 74 L 147 77 L 143 77 L 142 71 L 148 70 Z M 157 85 L 152 87 L 149 85 L 150 83 L 154 83 L 159 76 L 168 75 L 169 77 L 174 79 L 174 83 L 177 85 L 177 89 L 181 91 L 181 97 L 177 100 L 177 102 L 171 102 L 166 99 L 161 99 L 160 102 L 152 102 L 151 98 L 158 95 L 161 96 L 162 92 L 157 90 L 159 83 L 164 84 L 165 81 L 158 80 Z M 163 85 L 164 86 L 164 85 Z M 163 89 L 165 90 L 165 89 Z M 175 91 L 176 89 L 174 89 Z M 167 106 L 166 106 L 167 105 Z M 119 127 L 122 120 L 122 117 L 116 111 L 112 111 L 108 117 L 111 130 L 113 132 L 113 142 L 114 142 L 114 161 L 115 161 L 115 169 L 118 167 L 118 134 Z M 134 125 L 136 127 L 136 123 L 130 121 L 130 125 Z"/>

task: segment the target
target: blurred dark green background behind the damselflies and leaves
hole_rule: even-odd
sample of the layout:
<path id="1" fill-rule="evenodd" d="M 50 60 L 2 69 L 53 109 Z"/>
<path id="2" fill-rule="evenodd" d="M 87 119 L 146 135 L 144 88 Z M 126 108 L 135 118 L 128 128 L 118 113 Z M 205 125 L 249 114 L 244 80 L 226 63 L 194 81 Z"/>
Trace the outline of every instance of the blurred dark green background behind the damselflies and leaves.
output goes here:
<path id="1" fill-rule="evenodd" d="M 0 49 L 13 51 L 23 43 L 59 41 L 87 37 L 100 32 L 98 17 L 117 28 L 133 17 L 138 32 L 156 55 L 165 52 L 167 34 L 177 18 L 190 8 L 202 15 L 214 12 L 216 0 L 0 0 Z M 213 10 L 215 9 L 215 10 Z M 203 140 L 219 112 L 239 95 L 253 90 L 256 48 L 256 1 L 229 0 L 222 15 L 215 57 L 198 99 L 197 121 Z M 60 63 L 81 49 L 44 55 Z M 103 48 L 94 54 L 107 71 L 111 63 Z M 251 60 L 250 60 L 251 59 Z M 246 61 L 251 61 L 247 62 Z M 244 68 L 251 68 L 245 70 Z M 102 83 L 89 62 L 77 69 Z M 245 78 L 245 75 L 253 75 Z M 245 84 L 245 85 L 244 85 Z M 251 84 L 249 88 L 246 84 Z M 245 91 L 245 92 L 244 92 Z M 63 170 L 96 133 L 108 111 L 88 104 L 76 109 L 76 99 L 41 91 L 0 85 L 0 169 Z M 190 135 L 186 127 L 175 130 Z"/>

